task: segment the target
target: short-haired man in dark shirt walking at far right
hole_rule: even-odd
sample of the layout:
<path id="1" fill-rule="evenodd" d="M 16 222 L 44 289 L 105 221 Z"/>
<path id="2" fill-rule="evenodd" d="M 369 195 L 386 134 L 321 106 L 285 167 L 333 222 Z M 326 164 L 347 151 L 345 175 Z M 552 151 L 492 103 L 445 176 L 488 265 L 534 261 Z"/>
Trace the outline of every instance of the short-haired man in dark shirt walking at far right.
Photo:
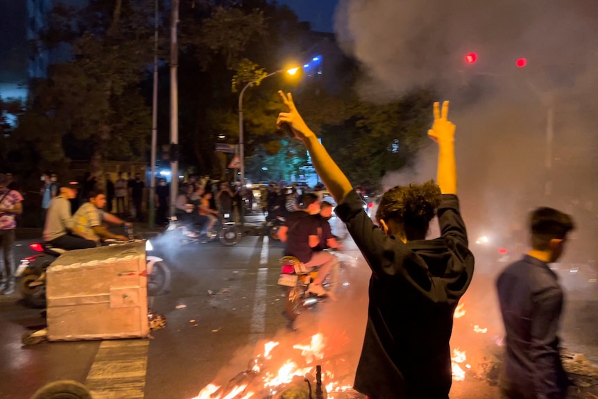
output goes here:
<path id="1" fill-rule="evenodd" d="M 504 269 L 496 286 L 506 330 L 502 398 L 563 399 L 569 380 L 558 352 L 563 289 L 548 264 L 563 254 L 572 218 L 549 207 L 531 212 L 531 251 Z"/>

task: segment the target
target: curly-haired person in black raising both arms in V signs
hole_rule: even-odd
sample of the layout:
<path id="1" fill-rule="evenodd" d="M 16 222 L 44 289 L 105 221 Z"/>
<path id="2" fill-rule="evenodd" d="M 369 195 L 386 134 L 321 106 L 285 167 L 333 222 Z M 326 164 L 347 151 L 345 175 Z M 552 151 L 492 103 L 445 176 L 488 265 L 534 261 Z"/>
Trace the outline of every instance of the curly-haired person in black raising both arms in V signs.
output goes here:
<path id="1" fill-rule="evenodd" d="M 474 257 L 456 197 L 455 126 L 434 103 L 429 137 L 438 143 L 438 185 L 394 187 L 377 210 L 379 228 L 349 180 L 307 127 L 291 94 L 279 92 L 287 124 L 305 144 L 318 176 L 339 205 L 336 214 L 364 255 L 370 278 L 368 322 L 354 389 L 374 399 L 447 399 L 452 382 L 454 309 L 470 285 Z M 441 237 L 426 240 L 438 214 Z"/>

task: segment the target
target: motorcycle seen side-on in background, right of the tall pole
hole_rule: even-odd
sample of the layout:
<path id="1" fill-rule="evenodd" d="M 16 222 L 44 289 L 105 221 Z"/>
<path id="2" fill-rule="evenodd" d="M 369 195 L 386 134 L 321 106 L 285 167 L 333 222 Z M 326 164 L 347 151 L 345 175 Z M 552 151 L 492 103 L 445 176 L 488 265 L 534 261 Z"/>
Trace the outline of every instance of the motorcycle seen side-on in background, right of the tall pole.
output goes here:
<path id="1" fill-rule="evenodd" d="M 216 238 L 225 246 L 232 246 L 241 240 L 241 229 L 237 223 L 228 221 L 229 215 L 218 216 L 218 220 L 209 231 L 197 232 L 194 226 L 188 226 L 184 221 L 178 220 L 176 216 L 169 218 L 166 232 L 176 232 L 179 235 L 180 244 L 186 245 L 196 242 L 211 242 Z"/>

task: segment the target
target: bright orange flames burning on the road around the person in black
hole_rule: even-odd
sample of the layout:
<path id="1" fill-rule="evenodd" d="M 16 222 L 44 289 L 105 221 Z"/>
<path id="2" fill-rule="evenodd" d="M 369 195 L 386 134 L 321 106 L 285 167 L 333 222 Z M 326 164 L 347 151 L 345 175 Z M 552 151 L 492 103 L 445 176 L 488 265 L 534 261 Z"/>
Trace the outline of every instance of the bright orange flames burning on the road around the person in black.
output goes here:
<path id="1" fill-rule="evenodd" d="M 455 312 L 456 323 L 465 321 L 465 304 Z M 486 334 L 488 328 L 470 323 L 471 334 Z M 486 338 L 488 339 L 488 338 Z M 486 340 L 484 339 L 484 340 Z M 465 341 L 471 341 L 466 337 Z M 344 333 L 326 336 L 317 332 L 302 341 L 281 345 L 280 341 L 259 344 L 257 355 L 246 370 L 237 374 L 228 384 L 208 384 L 193 399 L 283 399 L 312 398 L 316 391 L 316 366 L 322 366 L 323 398 L 363 398 L 352 390 L 353 365 L 348 364 L 350 338 Z M 469 373 L 478 375 L 480 359 L 468 359 L 467 347 L 452 350 L 453 381 L 465 380 Z M 315 396 L 318 398 L 318 396 Z"/>

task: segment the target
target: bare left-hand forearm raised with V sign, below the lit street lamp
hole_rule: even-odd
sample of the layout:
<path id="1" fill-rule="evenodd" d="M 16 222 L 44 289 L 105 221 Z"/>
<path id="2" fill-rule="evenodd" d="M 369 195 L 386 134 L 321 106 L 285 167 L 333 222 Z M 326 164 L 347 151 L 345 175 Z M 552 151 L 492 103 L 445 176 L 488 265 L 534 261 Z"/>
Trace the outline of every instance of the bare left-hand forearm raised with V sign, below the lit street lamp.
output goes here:
<path id="1" fill-rule="evenodd" d="M 287 105 L 289 112 L 280 112 L 276 121 L 277 126 L 280 127 L 282 124 L 288 124 L 291 127 L 295 137 L 305 144 L 318 176 L 320 176 L 322 182 L 328 191 L 330 191 L 330 194 L 332 194 L 334 201 L 337 203 L 341 202 L 353 189 L 351 183 L 343 171 L 336 165 L 336 162 L 330 158 L 326 148 L 318 141 L 318 137 L 307 127 L 295 103 L 293 103 L 291 93 L 285 95 L 283 92 L 278 92 L 278 94 L 280 94 L 284 104 Z"/>

